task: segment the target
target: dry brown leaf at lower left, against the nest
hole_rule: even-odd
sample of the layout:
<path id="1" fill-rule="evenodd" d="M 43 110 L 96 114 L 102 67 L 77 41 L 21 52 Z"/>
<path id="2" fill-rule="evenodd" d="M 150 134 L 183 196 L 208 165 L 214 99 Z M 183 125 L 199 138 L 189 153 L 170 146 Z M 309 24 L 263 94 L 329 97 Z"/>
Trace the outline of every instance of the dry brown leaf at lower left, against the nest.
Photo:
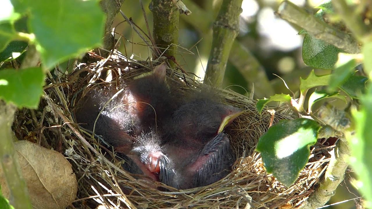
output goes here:
<path id="1" fill-rule="evenodd" d="M 64 209 L 75 200 L 76 177 L 62 154 L 25 140 L 14 145 L 33 208 Z M 2 176 L 0 169 L 1 189 L 3 195 L 9 197 Z"/>

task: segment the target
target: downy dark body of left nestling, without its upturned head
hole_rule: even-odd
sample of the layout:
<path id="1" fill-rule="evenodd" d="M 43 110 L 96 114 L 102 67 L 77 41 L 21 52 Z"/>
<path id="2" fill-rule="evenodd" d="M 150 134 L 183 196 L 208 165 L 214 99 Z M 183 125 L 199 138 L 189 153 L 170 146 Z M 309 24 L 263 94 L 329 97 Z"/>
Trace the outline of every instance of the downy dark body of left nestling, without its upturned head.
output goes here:
<path id="1" fill-rule="evenodd" d="M 125 107 L 120 106 L 121 99 L 112 96 L 109 88 L 89 90 L 78 102 L 75 116 L 83 128 L 102 136 L 106 147 L 112 146 L 116 151 L 126 153 L 134 143 L 134 138 L 129 135 L 131 117 Z"/>

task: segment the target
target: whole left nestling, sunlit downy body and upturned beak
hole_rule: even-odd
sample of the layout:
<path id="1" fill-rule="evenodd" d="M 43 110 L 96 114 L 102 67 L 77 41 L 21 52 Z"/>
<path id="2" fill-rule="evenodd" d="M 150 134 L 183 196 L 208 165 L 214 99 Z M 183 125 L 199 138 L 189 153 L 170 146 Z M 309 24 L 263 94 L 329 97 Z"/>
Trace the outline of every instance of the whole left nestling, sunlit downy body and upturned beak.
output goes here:
<path id="1" fill-rule="evenodd" d="M 94 129 L 116 151 L 128 154 L 135 142 L 133 137 L 156 129 L 172 109 L 165 63 L 121 87 L 123 90 L 114 98 L 118 93 L 114 87 L 89 90 L 75 114 L 83 128 Z"/>

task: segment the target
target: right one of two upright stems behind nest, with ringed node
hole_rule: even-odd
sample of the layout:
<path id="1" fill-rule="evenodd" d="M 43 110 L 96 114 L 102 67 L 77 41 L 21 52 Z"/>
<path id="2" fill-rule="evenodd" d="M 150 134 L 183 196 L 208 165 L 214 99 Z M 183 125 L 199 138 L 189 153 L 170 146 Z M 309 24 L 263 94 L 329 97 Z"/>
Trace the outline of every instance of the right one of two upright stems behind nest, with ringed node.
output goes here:
<path id="1" fill-rule="evenodd" d="M 223 0 L 214 22 L 212 48 L 204 77 L 204 81 L 213 86 L 220 86 L 224 80 L 231 46 L 239 32 L 239 15 L 242 1 Z"/>

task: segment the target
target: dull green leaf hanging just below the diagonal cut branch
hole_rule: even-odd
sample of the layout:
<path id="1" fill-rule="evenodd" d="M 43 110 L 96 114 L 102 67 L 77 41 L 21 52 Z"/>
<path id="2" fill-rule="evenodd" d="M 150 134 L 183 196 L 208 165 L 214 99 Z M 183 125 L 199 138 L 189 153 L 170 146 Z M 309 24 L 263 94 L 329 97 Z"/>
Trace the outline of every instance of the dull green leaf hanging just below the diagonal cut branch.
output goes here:
<path id="1" fill-rule="evenodd" d="M 332 69 L 341 49 L 306 34 L 302 42 L 302 60 L 313 68 Z"/>

